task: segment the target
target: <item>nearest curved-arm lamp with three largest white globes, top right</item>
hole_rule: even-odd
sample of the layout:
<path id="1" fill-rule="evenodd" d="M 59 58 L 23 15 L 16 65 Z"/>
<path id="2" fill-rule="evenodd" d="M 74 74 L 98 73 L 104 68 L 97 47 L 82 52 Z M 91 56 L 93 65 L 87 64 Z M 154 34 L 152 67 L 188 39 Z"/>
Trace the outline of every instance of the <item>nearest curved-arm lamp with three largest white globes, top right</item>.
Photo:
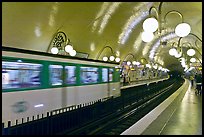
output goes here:
<path id="1" fill-rule="evenodd" d="M 158 9 L 155 8 L 154 6 L 152 6 L 150 9 L 149 9 L 149 15 L 150 17 L 147 18 L 144 22 L 143 22 L 143 29 L 144 29 L 144 32 L 146 34 L 147 37 L 149 37 L 149 40 L 147 40 L 147 37 L 143 36 L 142 35 L 142 40 L 144 42 L 150 42 L 151 40 L 150 39 L 153 39 L 152 38 L 152 34 L 153 32 L 155 32 L 157 29 L 158 29 L 158 34 L 159 34 L 159 39 L 160 39 L 160 43 L 161 42 L 161 33 L 162 33 L 162 29 L 164 28 L 162 26 L 162 18 L 161 18 L 161 12 L 162 12 L 162 4 L 163 2 L 160 2 L 159 4 L 159 7 Z M 156 16 L 153 16 L 151 17 L 151 12 L 152 10 L 155 10 L 156 12 Z M 191 31 L 191 27 L 188 23 L 185 23 L 184 22 L 184 19 L 183 19 L 183 15 L 179 12 L 179 11 L 176 11 L 176 10 L 171 10 L 169 12 L 167 12 L 164 16 L 164 23 L 166 24 L 166 17 L 167 15 L 169 14 L 173 14 L 173 13 L 176 13 L 178 14 L 180 17 L 181 17 L 181 23 L 178 24 L 175 28 L 175 33 L 177 36 L 179 37 L 185 37 L 187 36 L 190 31 Z M 150 37 L 151 36 L 151 37 Z"/>

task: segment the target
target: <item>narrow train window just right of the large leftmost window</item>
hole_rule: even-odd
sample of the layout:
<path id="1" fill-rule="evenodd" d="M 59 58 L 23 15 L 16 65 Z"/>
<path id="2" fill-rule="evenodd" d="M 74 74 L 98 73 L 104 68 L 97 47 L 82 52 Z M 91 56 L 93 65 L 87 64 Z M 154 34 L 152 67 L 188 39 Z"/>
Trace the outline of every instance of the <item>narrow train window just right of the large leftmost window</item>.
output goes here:
<path id="1" fill-rule="evenodd" d="M 50 72 L 50 84 L 52 86 L 55 85 L 62 85 L 62 65 L 50 65 L 49 66 Z"/>

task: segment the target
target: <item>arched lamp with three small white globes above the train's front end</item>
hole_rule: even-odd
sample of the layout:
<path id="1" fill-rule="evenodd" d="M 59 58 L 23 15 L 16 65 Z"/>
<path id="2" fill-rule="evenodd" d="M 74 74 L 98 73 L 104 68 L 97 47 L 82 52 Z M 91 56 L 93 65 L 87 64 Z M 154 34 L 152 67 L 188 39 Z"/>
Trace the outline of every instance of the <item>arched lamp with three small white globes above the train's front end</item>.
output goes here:
<path id="1" fill-rule="evenodd" d="M 98 60 L 99 59 L 99 57 L 100 57 L 100 55 L 101 55 L 101 53 L 104 51 L 104 49 L 106 49 L 106 48 L 109 48 L 110 50 L 111 50 L 111 56 L 109 57 L 109 60 L 110 61 L 116 61 L 116 62 L 120 62 L 120 58 L 119 57 L 116 57 L 115 58 L 115 52 L 113 51 L 113 49 L 110 47 L 110 46 L 105 46 L 105 47 L 103 47 L 100 51 L 99 51 L 99 53 L 98 53 L 98 55 L 97 55 L 97 57 L 96 57 L 96 60 Z M 106 57 L 106 56 L 104 56 L 103 57 L 103 61 L 108 61 L 108 57 Z"/>

